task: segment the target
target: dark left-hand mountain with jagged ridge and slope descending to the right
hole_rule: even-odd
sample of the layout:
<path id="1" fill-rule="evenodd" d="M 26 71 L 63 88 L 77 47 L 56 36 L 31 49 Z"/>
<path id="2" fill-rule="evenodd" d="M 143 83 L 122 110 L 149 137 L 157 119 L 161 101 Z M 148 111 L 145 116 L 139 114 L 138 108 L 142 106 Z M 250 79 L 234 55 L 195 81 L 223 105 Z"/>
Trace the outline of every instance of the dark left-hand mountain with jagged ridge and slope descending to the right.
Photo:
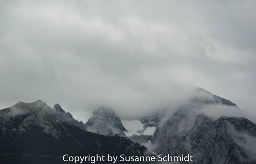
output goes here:
<path id="1" fill-rule="evenodd" d="M 83 125 L 59 105 L 54 109 L 38 100 L 18 102 L 0 110 L 0 163 L 63 163 L 69 155 L 143 155 L 146 147 L 115 135 L 102 136 L 83 130 Z M 16 154 L 16 155 L 15 155 Z M 19 154 L 23 154 L 20 156 Z M 24 155 L 27 154 L 27 155 Z M 37 154 L 31 157 L 29 154 Z M 42 157 L 42 155 L 55 155 Z"/>

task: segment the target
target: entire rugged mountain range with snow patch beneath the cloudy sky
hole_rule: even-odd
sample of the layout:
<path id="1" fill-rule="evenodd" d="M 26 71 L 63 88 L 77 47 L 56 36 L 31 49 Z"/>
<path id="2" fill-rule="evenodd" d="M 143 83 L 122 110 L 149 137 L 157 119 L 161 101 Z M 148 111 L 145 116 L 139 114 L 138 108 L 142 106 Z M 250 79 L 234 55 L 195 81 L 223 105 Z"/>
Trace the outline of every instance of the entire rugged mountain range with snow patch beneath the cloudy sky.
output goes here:
<path id="1" fill-rule="evenodd" d="M 18 102 L 0 110 L 0 155 L 143 155 L 147 150 L 139 144 L 143 143 L 154 154 L 192 154 L 192 163 L 255 164 L 256 124 L 243 117 L 217 118 L 209 114 L 226 113 L 227 108 L 231 113 L 244 112 L 231 101 L 198 88 L 177 109 L 166 108 L 139 120 L 121 121 L 112 109 L 101 108 L 83 124 L 58 104 L 51 109 L 40 100 Z M 3 157 L 0 163 L 40 163 L 39 159 L 45 160 L 41 163 L 62 162 L 57 158 Z"/>

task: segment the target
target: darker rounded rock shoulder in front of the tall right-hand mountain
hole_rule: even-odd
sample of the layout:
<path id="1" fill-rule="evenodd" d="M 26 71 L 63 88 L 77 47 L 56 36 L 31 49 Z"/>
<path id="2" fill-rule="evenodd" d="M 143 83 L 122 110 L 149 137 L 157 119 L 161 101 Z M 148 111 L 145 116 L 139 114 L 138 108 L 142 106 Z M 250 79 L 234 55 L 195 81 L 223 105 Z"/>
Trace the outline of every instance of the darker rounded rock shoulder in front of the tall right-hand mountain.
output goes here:
<path id="1" fill-rule="evenodd" d="M 246 118 L 221 117 L 192 141 L 190 151 L 202 163 L 256 162 L 256 124 Z M 198 156 L 205 152 L 205 158 Z"/>

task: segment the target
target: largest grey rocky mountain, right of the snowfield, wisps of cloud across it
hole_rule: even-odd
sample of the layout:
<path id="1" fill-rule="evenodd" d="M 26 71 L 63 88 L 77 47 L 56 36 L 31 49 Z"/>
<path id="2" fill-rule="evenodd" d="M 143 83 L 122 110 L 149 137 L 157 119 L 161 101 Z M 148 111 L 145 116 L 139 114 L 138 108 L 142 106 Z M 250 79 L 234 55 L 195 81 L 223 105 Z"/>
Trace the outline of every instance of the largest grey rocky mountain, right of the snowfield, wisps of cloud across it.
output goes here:
<path id="1" fill-rule="evenodd" d="M 194 162 L 256 163 L 256 125 L 246 118 L 220 117 L 198 112 L 202 106 L 226 105 L 241 110 L 229 100 L 199 89 L 207 98 L 195 97 L 174 114 L 159 118 L 152 137 L 159 154 L 193 154 Z"/>

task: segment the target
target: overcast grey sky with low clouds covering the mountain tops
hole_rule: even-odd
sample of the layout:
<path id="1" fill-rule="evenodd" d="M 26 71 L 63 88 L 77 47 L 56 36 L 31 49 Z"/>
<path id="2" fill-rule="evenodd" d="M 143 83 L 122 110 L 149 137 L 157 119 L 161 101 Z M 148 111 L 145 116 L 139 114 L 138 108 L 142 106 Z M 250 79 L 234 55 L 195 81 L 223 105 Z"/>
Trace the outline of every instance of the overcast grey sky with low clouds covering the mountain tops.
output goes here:
<path id="1" fill-rule="evenodd" d="M 256 1 L 0 0 L 0 108 L 40 99 L 85 122 L 198 86 L 255 112 L 255 29 Z"/>

